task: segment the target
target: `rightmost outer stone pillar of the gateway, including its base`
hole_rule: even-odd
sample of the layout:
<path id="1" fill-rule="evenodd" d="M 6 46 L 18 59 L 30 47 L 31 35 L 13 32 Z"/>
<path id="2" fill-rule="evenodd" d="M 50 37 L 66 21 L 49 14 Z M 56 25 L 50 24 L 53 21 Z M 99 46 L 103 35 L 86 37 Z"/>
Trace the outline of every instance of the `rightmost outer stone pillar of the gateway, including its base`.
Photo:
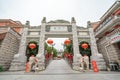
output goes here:
<path id="1" fill-rule="evenodd" d="M 99 70 L 105 70 L 106 63 L 103 59 L 102 54 L 98 52 L 94 31 L 90 25 L 90 22 L 88 22 L 88 28 L 89 28 L 89 35 L 90 35 L 90 42 L 91 42 L 90 47 L 92 52 L 91 60 L 95 60 L 97 62 L 97 66 Z"/>

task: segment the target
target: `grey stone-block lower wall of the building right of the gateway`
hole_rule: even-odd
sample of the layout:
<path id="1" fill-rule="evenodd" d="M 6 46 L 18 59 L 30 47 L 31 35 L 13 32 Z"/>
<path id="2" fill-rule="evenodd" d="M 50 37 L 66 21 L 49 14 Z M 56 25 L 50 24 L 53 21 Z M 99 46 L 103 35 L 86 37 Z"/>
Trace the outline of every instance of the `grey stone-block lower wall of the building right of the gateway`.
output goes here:
<path id="1" fill-rule="evenodd" d="M 109 35 L 103 36 L 97 41 L 98 50 L 103 54 L 106 62 L 117 62 L 120 65 L 120 49 L 117 43 L 110 43 L 110 36 L 115 34 L 118 29 L 111 32 Z"/>

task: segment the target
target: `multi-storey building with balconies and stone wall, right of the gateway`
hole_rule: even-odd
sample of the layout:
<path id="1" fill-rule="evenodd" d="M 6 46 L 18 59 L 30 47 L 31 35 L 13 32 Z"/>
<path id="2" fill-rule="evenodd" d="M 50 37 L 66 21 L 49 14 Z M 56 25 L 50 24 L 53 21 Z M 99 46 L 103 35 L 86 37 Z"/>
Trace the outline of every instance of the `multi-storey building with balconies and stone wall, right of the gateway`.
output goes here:
<path id="1" fill-rule="evenodd" d="M 106 63 L 120 65 L 120 0 L 117 0 L 100 18 L 94 28 L 98 51 Z"/>

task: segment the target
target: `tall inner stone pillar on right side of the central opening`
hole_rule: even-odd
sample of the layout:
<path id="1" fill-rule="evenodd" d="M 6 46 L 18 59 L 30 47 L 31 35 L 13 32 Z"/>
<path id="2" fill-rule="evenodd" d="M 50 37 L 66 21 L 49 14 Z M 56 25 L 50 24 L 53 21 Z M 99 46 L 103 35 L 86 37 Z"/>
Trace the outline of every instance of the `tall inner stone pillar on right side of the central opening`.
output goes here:
<path id="1" fill-rule="evenodd" d="M 78 43 L 78 37 L 77 37 L 77 27 L 76 27 L 76 22 L 75 19 L 72 18 L 71 21 L 72 24 L 72 33 L 73 33 L 73 51 L 74 51 L 74 56 L 73 56 L 73 69 L 74 70 L 80 70 L 80 59 L 81 55 L 79 52 L 79 43 Z"/>

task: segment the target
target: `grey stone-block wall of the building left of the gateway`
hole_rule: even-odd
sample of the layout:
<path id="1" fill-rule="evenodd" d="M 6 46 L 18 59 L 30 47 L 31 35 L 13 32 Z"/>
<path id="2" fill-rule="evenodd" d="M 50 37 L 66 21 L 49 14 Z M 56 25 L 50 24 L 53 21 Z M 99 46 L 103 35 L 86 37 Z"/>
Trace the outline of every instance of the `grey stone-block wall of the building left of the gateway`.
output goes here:
<path id="1" fill-rule="evenodd" d="M 6 33 L 0 48 L 0 66 L 3 66 L 5 70 L 10 67 L 14 55 L 18 53 L 19 38 L 20 35 L 16 31 L 8 28 L 8 32 Z"/>

